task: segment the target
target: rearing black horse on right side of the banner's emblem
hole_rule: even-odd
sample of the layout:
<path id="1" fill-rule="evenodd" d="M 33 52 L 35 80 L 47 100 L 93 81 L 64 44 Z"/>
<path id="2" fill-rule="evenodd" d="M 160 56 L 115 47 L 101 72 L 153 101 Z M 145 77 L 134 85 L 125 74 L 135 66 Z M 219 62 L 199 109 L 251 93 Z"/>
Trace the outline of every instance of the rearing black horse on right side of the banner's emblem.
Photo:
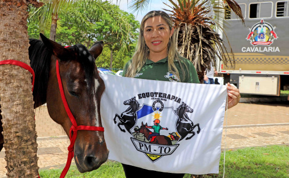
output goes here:
<path id="1" fill-rule="evenodd" d="M 193 131 L 194 128 L 197 126 L 198 131 L 197 134 L 201 131 L 201 128 L 199 128 L 199 124 L 193 123 L 186 114 L 186 112 L 192 113 L 193 109 L 187 106 L 184 102 L 182 105 L 180 105 L 176 110 L 174 110 L 175 114 L 178 116 L 176 119 L 176 131 L 181 136 L 180 140 L 183 140 L 188 134 L 192 134 L 192 136 L 187 137 L 186 140 L 191 139 L 195 132 Z"/>

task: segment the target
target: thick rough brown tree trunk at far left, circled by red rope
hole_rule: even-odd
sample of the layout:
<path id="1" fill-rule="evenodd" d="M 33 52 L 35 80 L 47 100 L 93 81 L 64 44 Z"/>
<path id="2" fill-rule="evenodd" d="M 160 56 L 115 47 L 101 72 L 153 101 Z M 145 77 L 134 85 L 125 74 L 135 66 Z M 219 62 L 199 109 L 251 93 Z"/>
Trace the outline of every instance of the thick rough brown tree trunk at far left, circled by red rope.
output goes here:
<path id="1" fill-rule="evenodd" d="M 0 0 L 0 60 L 29 65 L 27 6 L 36 1 Z M 8 177 L 38 177 L 31 73 L 0 65 L 0 97 Z"/>

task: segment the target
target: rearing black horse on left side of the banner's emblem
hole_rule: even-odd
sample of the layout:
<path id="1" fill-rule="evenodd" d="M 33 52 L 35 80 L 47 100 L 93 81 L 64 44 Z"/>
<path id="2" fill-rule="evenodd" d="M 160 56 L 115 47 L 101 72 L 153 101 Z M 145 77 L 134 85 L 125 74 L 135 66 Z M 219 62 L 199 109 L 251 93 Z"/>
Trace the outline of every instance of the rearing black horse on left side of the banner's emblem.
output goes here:
<path id="1" fill-rule="evenodd" d="M 131 134 L 130 129 L 137 122 L 137 111 L 141 109 L 141 106 L 136 99 L 136 96 L 131 99 L 125 100 L 123 104 L 129 105 L 129 107 L 123 113 L 121 113 L 121 115 L 116 114 L 114 122 L 115 124 L 117 123 L 116 118 L 118 117 L 120 120 L 120 122 L 118 123 L 118 127 L 121 132 L 125 132 L 125 130 L 122 129 L 120 125 L 124 125 L 124 128 L 127 130 L 127 132 Z"/>

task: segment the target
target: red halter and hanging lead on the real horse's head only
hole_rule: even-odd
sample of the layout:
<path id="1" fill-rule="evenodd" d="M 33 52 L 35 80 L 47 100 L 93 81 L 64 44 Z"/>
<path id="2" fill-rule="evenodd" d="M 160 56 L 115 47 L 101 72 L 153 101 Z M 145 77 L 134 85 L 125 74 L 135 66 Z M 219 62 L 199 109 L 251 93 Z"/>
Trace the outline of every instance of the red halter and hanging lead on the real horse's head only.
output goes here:
<path id="1" fill-rule="evenodd" d="M 63 171 L 61 172 L 60 178 L 64 177 L 66 175 L 66 173 L 69 170 L 69 167 L 71 165 L 71 161 L 74 155 L 74 143 L 76 140 L 76 136 L 77 136 L 77 131 L 79 130 L 87 130 L 87 131 L 100 131 L 100 132 L 104 132 L 104 128 L 100 127 L 100 126 L 85 126 L 85 125 L 77 125 L 75 118 L 73 117 L 73 114 L 71 113 L 69 106 L 67 104 L 67 101 L 65 99 L 65 95 L 64 95 L 64 91 L 63 91 L 63 87 L 62 87 L 62 82 L 61 82 L 61 78 L 60 78 L 60 73 L 59 73 L 59 64 L 58 64 L 58 60 L 56 61 L 56 74 L 57 74 L 57 81 L 58 81 L 58 86 L 59 86 L 59 91 L 60 91 L 60 95 L 61 95 L 61 99 L 65 108 L 65 111 L 67 113 L 67 115 L 69 116 L 72 126 L 70 128 L 70 145 L 68 147 L 68 158 L 67 158 L 67 162 L 66 165 L 63 169 Z"/>

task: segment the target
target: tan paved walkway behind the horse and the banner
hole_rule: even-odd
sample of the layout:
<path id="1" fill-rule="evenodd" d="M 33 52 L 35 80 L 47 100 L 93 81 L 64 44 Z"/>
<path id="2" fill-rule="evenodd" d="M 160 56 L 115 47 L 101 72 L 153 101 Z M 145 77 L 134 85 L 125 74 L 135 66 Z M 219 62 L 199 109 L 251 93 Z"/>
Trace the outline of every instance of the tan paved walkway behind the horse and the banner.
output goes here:
<path id="1" fill-rule="evenodd" d="M 64 168 L 69 139 L 60 125 L 49 117 L 45 106 L 36 109 L 38 166 L 40 169 Z M 230 109 L 225 116 L 222 146 L 235 149 L 252 146 L 289 145 L 289 103 L 245 104 Z M 226 136 L 226 139 L 225 138 Z M 4 149 L 0 152 L 0 177 L 6 177 Z M 74 159 L 73 159 L 74 163 Z"/>

